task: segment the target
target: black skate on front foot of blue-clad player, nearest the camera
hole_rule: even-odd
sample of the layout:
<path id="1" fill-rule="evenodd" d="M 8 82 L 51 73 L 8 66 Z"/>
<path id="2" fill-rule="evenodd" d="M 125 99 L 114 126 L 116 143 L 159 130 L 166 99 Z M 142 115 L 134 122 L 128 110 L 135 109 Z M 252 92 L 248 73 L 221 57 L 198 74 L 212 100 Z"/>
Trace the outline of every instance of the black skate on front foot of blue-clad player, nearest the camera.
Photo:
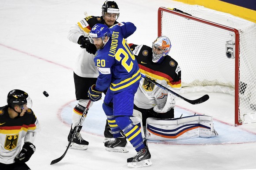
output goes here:
<path id="1" fill-rule="evenodd" d="M 140 149 L 139 152 L 132 158 L 127 159 L 128 167 L 143 167 L 152 165 L 150 152 L 147 147 L 146 140 L 144 141 L 145 148 Z"/>

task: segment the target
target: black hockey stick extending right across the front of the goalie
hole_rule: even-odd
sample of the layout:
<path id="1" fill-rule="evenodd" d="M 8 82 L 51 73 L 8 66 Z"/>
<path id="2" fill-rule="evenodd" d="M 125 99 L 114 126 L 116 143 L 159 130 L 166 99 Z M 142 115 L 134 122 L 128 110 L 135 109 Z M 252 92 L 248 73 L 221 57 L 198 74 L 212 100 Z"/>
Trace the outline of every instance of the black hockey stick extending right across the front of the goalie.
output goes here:
<path id="1" fill-rule="evenodd" d="M 203 102 L 205 102 L 205 101 L 207 101 L 207 100 L 209 99 L 209 96 L 208 96 L 208 95 L 205 95 L 205 96 L 202 96 L 202 97 L 200 97 L 200 98 L 198 98 L 198 99 L 190 100 L 190 99 L 187 99 L 187 98 L 185 98 L 185 97 L 183 97 L 183 96 L 180 96 L 180 95 L 177 94 L 176 92 L 173 92 L 172 90 L 170 90 L 170 89 L 166 88 L 165 86 L 163 86 L 163 85 L 157 83 L 156 81 L 153 81 L 153 80 L 151 80 L 150 78 L 147 78 L 147 77 L 146 77 L 145 75 L 143 75 L 143 74 L 141 74 L 141 77 L 145 78 L 147 81 L 150 81 L 151 83 L 154 83 L 155 85 L 161 87 L 162 89 L 165 89 L 166 91 L 172 93 L 173 95 L 179 97 L 180 99 L 185 100 L 186 102 L 188 102 L 188 103 L 190 103 L 190 104 L 200 104 L 200 103 L 203 103 Z"/>

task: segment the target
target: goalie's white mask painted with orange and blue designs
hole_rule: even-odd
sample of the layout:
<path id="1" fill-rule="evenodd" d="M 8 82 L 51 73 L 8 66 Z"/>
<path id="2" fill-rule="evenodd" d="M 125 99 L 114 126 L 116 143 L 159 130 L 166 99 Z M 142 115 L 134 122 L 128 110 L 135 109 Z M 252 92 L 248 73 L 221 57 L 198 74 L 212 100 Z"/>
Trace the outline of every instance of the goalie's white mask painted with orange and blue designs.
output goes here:
<path id="1" fill-rule="evenodd" d="M 157 39 L 152 44 L 152 61 L 154 63 L 159 62 L 162 58 L 164 58 L 171 49 L 170 39 L 166 36 L 157 37 Z"/>

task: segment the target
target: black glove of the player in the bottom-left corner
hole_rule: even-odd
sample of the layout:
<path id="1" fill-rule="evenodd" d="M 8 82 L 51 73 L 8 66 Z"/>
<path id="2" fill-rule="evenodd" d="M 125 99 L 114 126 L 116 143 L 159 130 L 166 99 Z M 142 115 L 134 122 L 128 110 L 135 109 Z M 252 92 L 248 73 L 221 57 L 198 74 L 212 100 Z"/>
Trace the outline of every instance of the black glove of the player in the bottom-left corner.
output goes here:
<path id="1" fill-rule="evenodd" d="M 22 150 L 15 157 L 14 161 L 17 163 L 26 163 L 35 151 L 36 151 L 36 146 L 34 146 L 30 142 L 25 142 L 22 147 Z"/>

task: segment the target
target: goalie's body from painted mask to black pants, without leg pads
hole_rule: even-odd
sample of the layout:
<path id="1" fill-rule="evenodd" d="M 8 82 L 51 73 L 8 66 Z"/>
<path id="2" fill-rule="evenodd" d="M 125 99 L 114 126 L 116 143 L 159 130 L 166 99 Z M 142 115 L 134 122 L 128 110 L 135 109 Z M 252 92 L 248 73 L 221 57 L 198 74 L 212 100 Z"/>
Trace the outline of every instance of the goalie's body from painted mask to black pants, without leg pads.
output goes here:
<path id="1" fill-rule="evenodd" d="M 181 69 L 172 57 L 168 56 L 171 42 L 166 36 L 158 37 L 152 48 L 145 45 L 129 44 L 139 64 L 140 73 L 172 91 L 181 89 Z M 166 119 L 174 117 L 175 97 L 142 78 L 135 94 L 134 109 L 142 113 L 143 126 L 148 117 Z"/>

